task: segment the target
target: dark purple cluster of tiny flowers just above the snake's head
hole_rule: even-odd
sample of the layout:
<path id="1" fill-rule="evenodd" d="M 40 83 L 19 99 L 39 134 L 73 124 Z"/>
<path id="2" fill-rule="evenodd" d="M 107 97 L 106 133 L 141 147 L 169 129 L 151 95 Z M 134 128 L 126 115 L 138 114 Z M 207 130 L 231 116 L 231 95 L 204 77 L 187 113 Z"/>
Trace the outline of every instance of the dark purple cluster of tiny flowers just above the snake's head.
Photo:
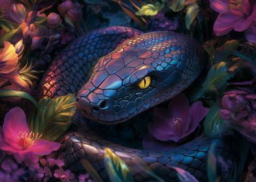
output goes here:
<path id="1" fill-rule="evenodd" d="M 176 31 L 178 29 L 178 20 L 167 19 L 163 12 L 159 12 L 150 21 L 150 27 L 152 31 Z"/>

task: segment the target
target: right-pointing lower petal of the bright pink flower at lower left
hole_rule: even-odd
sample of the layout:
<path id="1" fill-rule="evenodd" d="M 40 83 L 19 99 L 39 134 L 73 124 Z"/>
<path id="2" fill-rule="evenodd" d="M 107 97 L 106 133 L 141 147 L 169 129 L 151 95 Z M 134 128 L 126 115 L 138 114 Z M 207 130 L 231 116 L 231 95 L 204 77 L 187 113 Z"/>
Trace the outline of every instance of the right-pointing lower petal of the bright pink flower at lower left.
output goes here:
<path id="1" fill-rule="evenodd" d="M 28 148 L 27 150 L 32 151 L 37 155 L 48 155 L 52 153 L 52 151 L 56 151 L 59 149 L 61 144 L 57 142 L 50 142 L 47 140 L 37 140 L 37 142 Z"/>

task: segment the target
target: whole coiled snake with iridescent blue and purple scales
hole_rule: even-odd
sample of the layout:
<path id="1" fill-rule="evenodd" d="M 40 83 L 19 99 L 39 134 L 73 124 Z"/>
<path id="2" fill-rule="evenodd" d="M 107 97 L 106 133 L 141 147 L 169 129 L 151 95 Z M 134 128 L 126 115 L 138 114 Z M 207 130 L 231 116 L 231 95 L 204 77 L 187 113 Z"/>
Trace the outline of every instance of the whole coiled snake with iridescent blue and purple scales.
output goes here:
<path id="1" fill-rule="evenodd" d="M 135 181 L 152 181 L 138 166 L 148 166 L 166 181 L 177 179 L 178 166 L 199 181 L 208 181 L 207 156 L 215 148 L 229 155 L 221 140 L 206 135 L 165 151 L 134 149 L 95 134 L 84 118 L 112 125 L 132 120 L 144 110 L 173 98 L 197 79 L 206 57 L 197 40 L 178 32 L 143 33 L 131 27 L 106 27 L 72 41 L 52 60 L 40 81 L 40 96 L 76 93 L 74 127 L 61 139 L 59 155 L 73 172 L 85 159 L 108 181 L 104 149 L 110 148 L 129 167 Z"/>

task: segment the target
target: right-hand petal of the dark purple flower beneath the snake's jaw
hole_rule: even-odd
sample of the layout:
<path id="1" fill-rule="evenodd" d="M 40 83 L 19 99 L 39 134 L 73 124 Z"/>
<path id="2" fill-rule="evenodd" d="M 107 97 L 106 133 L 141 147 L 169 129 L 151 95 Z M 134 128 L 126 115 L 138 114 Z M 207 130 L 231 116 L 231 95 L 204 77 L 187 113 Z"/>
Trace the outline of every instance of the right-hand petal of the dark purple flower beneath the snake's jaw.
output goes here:
<path id="1" fill-rule="evenodd" d="M 202 102 L 200 101 L 197 101 L 193 103 L 193 105 L 191 105 L 191 107 L 189 108 L 190 120 L 189 123 L 187 123 L 187 125 L 189 125 L 189 128 L 188 131 L 186 131 L 186 135 L 189 135 L 190 133 L 195 131 L 195 129 L 197 129 L 200 121 L 206 116 L 208 111 L 209 109 L 203 107 Z"/>

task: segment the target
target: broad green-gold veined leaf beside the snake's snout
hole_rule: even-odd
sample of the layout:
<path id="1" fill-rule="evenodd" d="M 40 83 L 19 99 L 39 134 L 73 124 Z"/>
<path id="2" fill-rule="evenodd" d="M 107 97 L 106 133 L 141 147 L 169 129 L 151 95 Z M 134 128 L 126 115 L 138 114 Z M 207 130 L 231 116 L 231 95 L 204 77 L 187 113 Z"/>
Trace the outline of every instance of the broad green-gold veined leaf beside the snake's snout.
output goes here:
<path id="1" fill-rule="evenodd" d="M 29 117 L 29 129 L 42 134 L 45 140 L 55 141 L 69 129 L 75 110 L 74 94 L 56 99 L 44 97 Z"/>

